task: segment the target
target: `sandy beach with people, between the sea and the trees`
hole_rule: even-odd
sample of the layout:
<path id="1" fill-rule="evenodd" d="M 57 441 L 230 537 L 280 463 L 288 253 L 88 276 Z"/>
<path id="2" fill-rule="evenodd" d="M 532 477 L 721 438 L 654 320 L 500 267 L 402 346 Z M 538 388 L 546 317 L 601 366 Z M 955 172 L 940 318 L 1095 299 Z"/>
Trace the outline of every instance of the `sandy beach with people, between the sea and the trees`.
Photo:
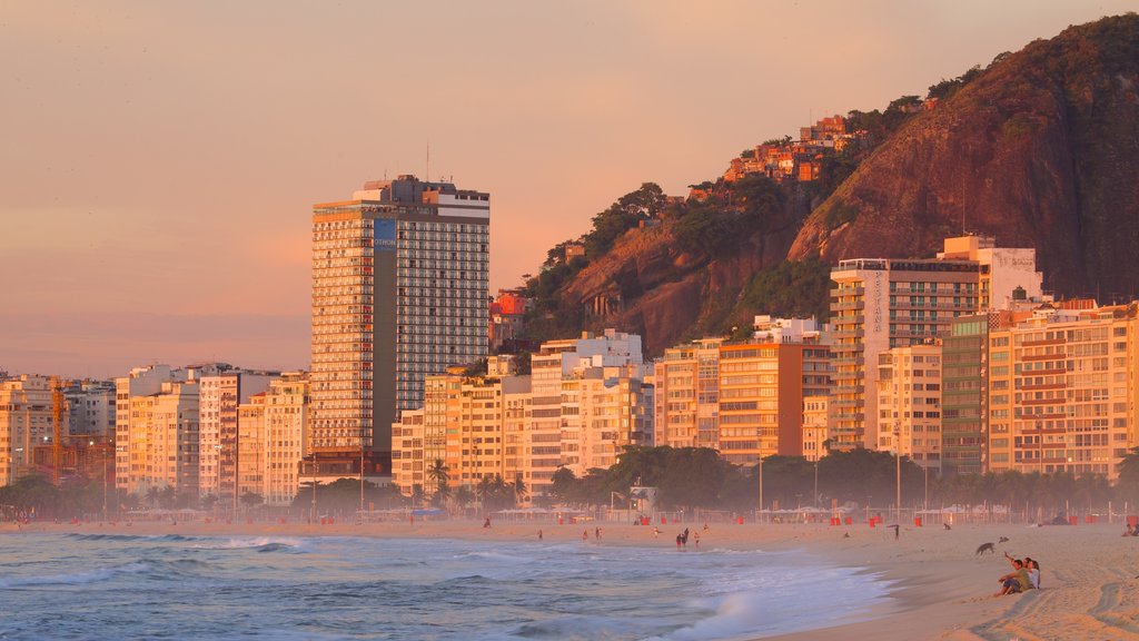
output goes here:
<path id="1" fill-rule="evenodd" d="M 597 541 L 593 529 L 601 528 Z M 421 521 L 385 524 L 254 524 L 96 522 L 33 524 L 25 530 L 84 534 L 183 536 L 371 536 L 448 537 L 478 541 L 577 542 L 584 545 L 638 545 L 675 554 L 674 537 L 689 527 L 699 532 L 699 546 L 689 541 L 688 553 L 715 549 L 802 550 L 836 565 L 865 568 L 891 582 L 891 599 L 868 612 L 867 620 L 811 632 L 769 636 L 779 641 L 876 639 L 944 640 L 1067 640 L 1139 639 L 1139 538 L 1120 536 L 1123 524 L 1079 526 L 940 525 L 903 526 L 900 537 L 886 527 L 870 528 L 822 524 L 735 525 L 696 524 L 653 527 L 615 522 L 563 525 L 538 521 Z M 0 526 L 15 533 L 11 524 Z M 588 530 L 589 542 L 582 542 Z M 844 534 L 850 537 L 844 537 Z M 998 543 L 1001 536 L 1007 543 Z M 997 543 L 995 553 L 976 555 L 982 543 Z M 992 597 L 997 578 L 1009 571 L 1003 552 L 1029 555 L 1041 565 L 1041 590 Z M 825 598 L 825 595 L 820 595 Z"/>

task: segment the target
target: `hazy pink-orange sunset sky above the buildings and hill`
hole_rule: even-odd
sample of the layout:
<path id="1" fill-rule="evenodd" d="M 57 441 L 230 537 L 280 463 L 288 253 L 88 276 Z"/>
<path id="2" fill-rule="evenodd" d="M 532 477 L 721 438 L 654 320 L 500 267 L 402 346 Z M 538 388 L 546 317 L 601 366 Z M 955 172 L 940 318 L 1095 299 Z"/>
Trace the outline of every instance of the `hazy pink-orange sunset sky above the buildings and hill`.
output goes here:
<path id="1" fill-rule="evenodd" d="M 308 368 L 312 205 L 366 180 L 490 192 L 493 292 L 642 182 L 1133 10 L 8 0 L 0 370 Z"/>

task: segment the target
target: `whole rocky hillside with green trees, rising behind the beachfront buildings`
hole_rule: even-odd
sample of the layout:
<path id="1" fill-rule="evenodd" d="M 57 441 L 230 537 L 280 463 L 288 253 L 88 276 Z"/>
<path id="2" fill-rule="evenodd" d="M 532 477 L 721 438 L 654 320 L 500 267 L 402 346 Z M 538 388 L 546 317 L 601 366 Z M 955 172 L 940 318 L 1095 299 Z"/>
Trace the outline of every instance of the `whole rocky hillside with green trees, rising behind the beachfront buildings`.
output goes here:
<path id="1" fill-rule="evenodd" d="M 933 255 L 962 229 L 1036 248 L 1058 294 L 1139 294 L 1139 16 L 1071 27 L 931 97 L 904 117 L 852 112 L 888 127 L 833 193 L 748 178 L 702 202 L 623 196 L 584 258 L 528 283 L 532 338 L 614 326 L 659 354 L 756 311 L 823 311 L 829 265 Z"/>

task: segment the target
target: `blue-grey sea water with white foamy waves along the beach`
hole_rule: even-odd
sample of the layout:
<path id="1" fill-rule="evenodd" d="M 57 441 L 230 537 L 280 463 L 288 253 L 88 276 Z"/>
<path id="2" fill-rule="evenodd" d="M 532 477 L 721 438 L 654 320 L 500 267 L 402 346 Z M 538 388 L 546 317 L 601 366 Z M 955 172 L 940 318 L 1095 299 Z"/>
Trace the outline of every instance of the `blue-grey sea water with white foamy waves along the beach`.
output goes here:
<path id="1" fill-rule="evenodd" d="M 755 639 L 867 618 L 887 589 L 693 545 L 0 536 L 0 639 Z"/>

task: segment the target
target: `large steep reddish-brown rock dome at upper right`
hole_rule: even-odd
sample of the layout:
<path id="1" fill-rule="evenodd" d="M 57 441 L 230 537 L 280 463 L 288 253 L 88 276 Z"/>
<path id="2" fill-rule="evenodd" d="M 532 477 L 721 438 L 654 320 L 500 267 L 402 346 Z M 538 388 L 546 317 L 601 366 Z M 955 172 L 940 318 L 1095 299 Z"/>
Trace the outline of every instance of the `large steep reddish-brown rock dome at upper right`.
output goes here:
<path id="1" fill-rule="evenodd" d="M 1139 16 L 994 63 L 886 140 L 789 258 L 932 255 L 962 229 L 1033 246 L 1066 295 L 1139 294 Z"/>

